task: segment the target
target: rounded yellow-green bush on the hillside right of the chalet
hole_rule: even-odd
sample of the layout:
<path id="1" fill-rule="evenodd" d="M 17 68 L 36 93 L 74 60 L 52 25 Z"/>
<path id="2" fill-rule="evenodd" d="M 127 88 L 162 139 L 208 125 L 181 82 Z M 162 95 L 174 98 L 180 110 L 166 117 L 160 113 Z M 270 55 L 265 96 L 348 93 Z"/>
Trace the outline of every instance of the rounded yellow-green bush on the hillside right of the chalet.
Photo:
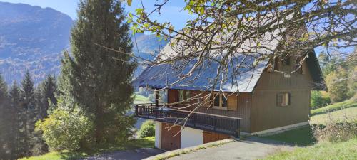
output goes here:
<path id="1" fill-rule="evenodd" d="M 345 69 L 338 68 L 336 71 L 326 75 L 328 95 L 333 102 L 341 102 L 348 98 L 348 74 Z"/>

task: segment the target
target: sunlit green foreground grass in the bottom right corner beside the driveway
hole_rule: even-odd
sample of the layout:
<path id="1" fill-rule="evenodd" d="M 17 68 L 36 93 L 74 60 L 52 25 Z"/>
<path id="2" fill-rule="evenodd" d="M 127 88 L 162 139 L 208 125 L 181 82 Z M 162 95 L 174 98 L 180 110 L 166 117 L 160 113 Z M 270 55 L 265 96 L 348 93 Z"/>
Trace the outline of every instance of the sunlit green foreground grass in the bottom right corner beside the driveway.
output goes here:
<path id="1" fill-rule="evenodd" d="M 269 160 L 281 159 L 357 159 L 357 139 L 347 142 L 323 142 L 314 146 L 296 148 L 266 157 Z"/>

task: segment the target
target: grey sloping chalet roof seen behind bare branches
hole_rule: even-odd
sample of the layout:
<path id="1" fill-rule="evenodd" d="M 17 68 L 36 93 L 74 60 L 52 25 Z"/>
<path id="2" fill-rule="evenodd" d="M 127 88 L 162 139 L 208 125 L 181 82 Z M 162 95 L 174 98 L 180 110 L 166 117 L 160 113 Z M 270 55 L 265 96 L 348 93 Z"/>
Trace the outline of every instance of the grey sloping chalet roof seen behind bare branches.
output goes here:
<path id="1" fill-rule="evenodd" d="M 270 20 L 271 21 L 271 20 Z M 283 20 L 282 20 L 283 21 Z M 254 23 L 254 22 L 248 22 Z M 263 21 L 262 23 L 268 23 Z M 279 22 L 280 23 L 280 22 Z M 220 74 L 217 79 L 219 64 L 214 60 L 205 60 L 203 64 L 193 70 L 193 73 L 186 76 L 193 65 L 198 61 L 193 60 L 176 60 L 174 63 L 149 65 L 136 80 L 134 87 L 151 87 L 151 88 L 171 88 L 180 90 L 223 90 L 224 92 L 252 92 L 258 79 L 268 64 L 268 60 L 260 60 L 255 63 L 258 55 L 273 54 L 282 35 L 286 29 L 278 28 L 268 32 L 259 38 L 259 43 L 255 38 L 248 38 L 243 41 L 242 46 L 230 57 L 233 63 L 228 65 L 227 74 Z M 226 37 L 229 36 L 227 33 Z M 184 46 L 178 43 L 176 48 Z M 252 54 L 246 57 L 248 52 Z M 219 50 L 210 50 L 210 54 L 218 55 Z M 180 53 L 185 54 L 185 53 Z M 189 54 L 189 53 L 188 53 Z M 169 44 L 161 50 L 159 56 L 162 59 L 177 56 L 177 49 L 172 48 Z M 246 58 L 245 58 L 246 57 Z M 219 58 L 217 58 L 219 60 Z M 221 76 L 226 76 L 221 78 Z M 224 82 L 221 82 L 221 80 Z M 214 86 L 214 87 L 213 87 Z"/>

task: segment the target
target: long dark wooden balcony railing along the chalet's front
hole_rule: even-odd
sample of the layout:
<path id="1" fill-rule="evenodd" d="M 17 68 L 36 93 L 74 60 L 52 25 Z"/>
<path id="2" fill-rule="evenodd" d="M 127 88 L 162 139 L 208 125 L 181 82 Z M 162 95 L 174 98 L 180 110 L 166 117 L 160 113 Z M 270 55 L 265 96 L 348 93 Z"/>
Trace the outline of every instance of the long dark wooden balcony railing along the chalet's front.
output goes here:
<path id="1" fill-rule="evenodd" d="M 136 105 L 135 115 L 145 119 L 154 119 L 159 122 L 168 122 L 171 124 L 184 125 L 186 127 L 202 129 L 210 132 L 221 134 L 229 134 L 234 137 L 239 137 L 239 123 L 241 118 L 227 117 L 218 114 L 207 114 L 201 112 L 176 110 L 167 107 L 156 107 L 153 105 Z M 183 124 L 183 119 L 188 117 L 186 123 Z"/>

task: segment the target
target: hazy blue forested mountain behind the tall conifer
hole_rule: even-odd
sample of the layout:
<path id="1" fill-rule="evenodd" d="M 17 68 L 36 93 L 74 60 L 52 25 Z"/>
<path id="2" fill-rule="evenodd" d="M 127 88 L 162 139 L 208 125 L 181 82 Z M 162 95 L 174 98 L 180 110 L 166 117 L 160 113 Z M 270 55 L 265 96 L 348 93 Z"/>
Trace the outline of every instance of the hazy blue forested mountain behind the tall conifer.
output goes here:
<path id="1" fill-rule="evenodd" d="M 58 75 L 63 50 L 70 50 L 74 21 L 51 8 L 0 2 L 0 73 L 6 82 L 21 81 L 26 70 L 35 83 Z M 166 42 L 154 35 L 133 36 L 135 55 L 152 60 Z M 137 47 L 136 47 L 137 44 Z M 138 51 L 139 49 L 139 51 Z M 138 75 L 144 66 L 139 66 Z"/>

